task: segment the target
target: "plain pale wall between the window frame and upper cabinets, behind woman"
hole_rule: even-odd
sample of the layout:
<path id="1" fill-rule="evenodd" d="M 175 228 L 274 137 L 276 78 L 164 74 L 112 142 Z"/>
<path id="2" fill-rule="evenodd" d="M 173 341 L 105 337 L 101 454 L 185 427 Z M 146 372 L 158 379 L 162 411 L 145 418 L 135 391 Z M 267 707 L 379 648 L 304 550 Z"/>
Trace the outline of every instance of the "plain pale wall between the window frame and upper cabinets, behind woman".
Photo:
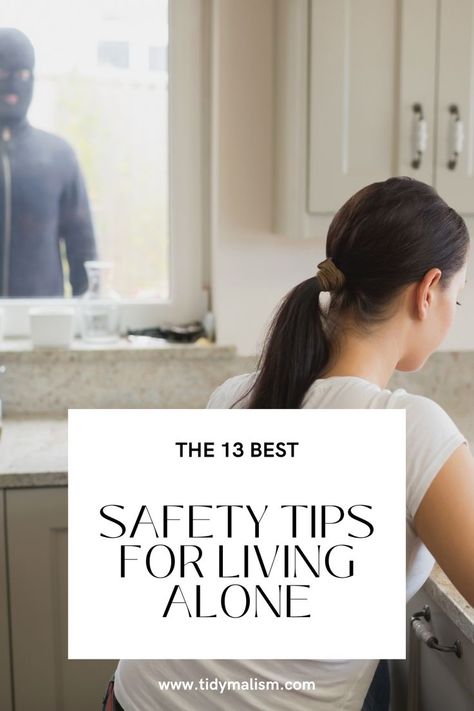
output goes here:
<path id="1" fill-rule="evenodd" d="M 213 307 L 218 342 L 259 351 L 281 297 L 311 276 L 325 235 L 272 233 L 273 0 L 217 0 L 217 215 Z M 474 220 L 468 225 L 474 235 Z M 474 266 L 442 350 L 474 349 Z"/>

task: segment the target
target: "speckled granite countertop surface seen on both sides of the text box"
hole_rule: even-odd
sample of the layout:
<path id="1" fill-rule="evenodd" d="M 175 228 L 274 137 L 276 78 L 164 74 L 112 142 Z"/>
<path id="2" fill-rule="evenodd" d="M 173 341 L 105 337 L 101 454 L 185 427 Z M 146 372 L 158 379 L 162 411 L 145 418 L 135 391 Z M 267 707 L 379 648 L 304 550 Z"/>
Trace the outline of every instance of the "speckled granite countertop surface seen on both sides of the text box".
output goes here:
<path id="1" fill-rule="evenodd" d="M 3 421 L 0 489 L 36 486 L 67 486 L 66 418 L 18 417 Z M 474 608 L 438 565 L 424 589 L 474 644 Z"/>

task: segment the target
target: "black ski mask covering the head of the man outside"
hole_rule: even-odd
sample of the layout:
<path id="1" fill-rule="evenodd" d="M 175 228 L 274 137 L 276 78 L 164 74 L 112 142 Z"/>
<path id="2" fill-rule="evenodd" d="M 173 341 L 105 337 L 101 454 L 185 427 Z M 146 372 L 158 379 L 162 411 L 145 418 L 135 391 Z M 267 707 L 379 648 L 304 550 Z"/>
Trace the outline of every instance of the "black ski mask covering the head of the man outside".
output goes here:
<path id="1" fill-rule="evenodd" d="M 0 124 L 22 121 L 33 96 L 35 50 L 23 32 L 0 28 Z"/>

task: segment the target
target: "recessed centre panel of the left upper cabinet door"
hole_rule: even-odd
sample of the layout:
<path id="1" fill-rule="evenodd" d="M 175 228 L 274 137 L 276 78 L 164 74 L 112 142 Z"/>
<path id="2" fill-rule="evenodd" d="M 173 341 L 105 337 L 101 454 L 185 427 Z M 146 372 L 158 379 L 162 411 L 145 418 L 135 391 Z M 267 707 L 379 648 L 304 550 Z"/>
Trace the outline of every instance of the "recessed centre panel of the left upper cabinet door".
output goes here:
<path id="1" fill-rule="evenodd" d="M 396 174 L 400 2 L 310 4 L 308 211 Z"/>

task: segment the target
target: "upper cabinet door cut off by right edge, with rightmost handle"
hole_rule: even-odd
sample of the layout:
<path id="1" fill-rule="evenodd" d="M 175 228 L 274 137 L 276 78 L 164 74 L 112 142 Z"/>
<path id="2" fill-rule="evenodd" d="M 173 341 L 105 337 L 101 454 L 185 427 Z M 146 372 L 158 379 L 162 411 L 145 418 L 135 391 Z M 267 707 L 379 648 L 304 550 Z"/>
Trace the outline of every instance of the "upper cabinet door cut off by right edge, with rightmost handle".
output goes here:
<path id="1" fill-rule="evenodd" d="M 455 210 L 474 214 L 474 0 L 441 0 L 436 188 Z M 464 145 L 450 169 L 457 107 Z"/>

